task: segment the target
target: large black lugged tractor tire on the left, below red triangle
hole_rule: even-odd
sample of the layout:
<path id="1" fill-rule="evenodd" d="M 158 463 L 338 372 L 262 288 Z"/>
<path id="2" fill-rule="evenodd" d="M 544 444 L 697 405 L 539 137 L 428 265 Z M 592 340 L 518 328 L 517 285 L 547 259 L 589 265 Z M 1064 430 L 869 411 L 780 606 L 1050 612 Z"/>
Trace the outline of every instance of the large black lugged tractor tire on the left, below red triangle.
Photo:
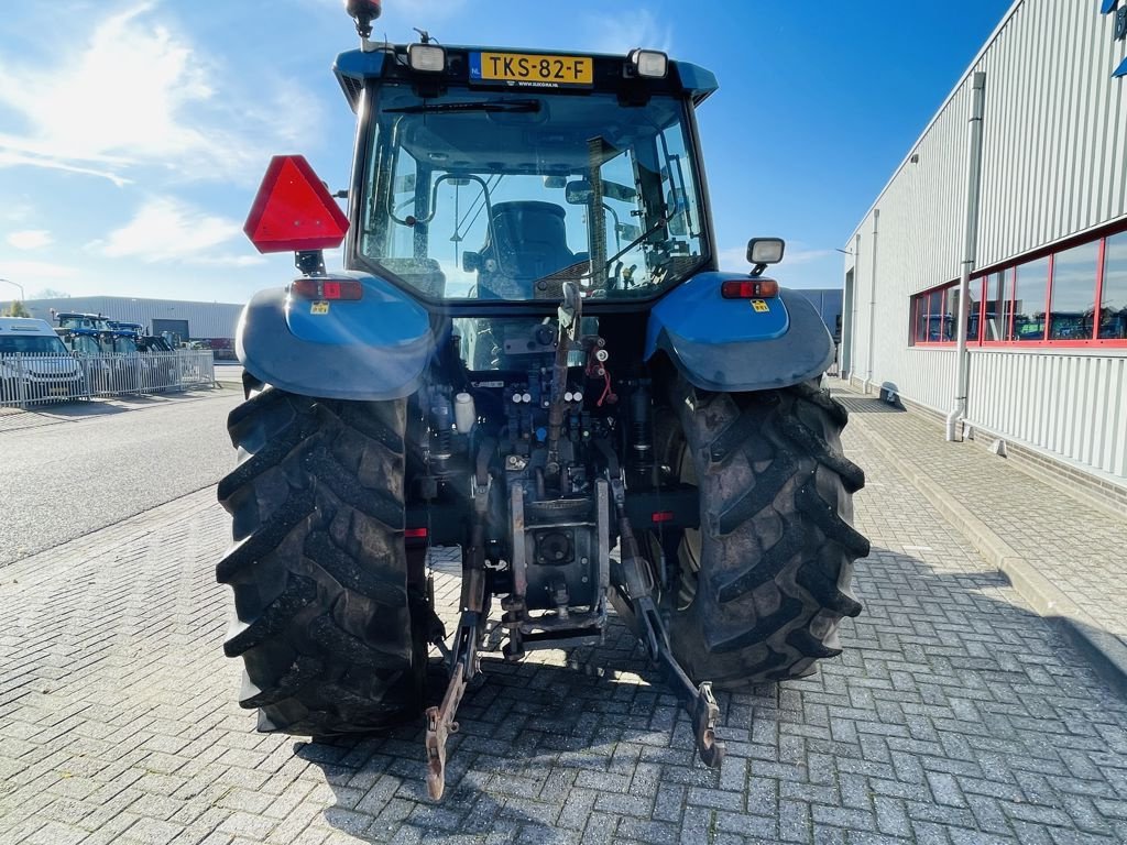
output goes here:
<path id="1" fill-rule="evenodd" d="M 261 731 L 373 731 L 421 712 L 432 611 L 403 546 L 406 404 L 267 386 L 228 419 L 223 649 L 243 660 L 239 703 Z"/>

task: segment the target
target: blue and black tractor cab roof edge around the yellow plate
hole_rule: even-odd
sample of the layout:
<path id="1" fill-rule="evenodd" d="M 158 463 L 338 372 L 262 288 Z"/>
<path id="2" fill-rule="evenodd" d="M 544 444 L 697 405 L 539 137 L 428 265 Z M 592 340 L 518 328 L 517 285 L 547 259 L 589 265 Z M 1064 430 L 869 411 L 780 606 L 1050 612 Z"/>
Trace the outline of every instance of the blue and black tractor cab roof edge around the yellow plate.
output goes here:
<path id="1" fill-rule="evenodd" d="M 373 52 L 362 50 L 350 50 L 337 56 L 332 65 L 332 71 L 337 75 L 337 81 L 344 90 L 345 98 L 353 112 L 357 109 L 361 95 L 364 91 L 364 83 L 371 79 L 387 79 L 421 84 L 453 84 L 469 86 L 470 55 L 472 53 L 509 53 L 518 55 L 536 56 L 583 56 L 594 60 L 594 82 L 589 88 L 583 89 L 551 89 L 543 87 L 526 88 L 527 91 L 536 95 L 567 95 L 582 94 L 586 90 L 621 92 L 631 96 L 673 94 L 689 95 L 693 105 L 700 105 L 704 99 L 719 88 L 716 75 L 700 65 L 691 62 L 669 61 L 668 73 L 663 79 L 639 79 L 628 78 L 625 69 L 629 64 L 625 56 L 591 54 L 577 52 L 561 52 L 554 50 L 509 50 L 505 47 L 468 47 L 446 46 L 446 70 L 442 74 L 421 74 L 411 71 L 406 61 L 406 44 L 381 45 Z M 479 83 L 474 83 L 478 88 Z M 488 90 L 490 86 L 480 84 L 481 90 Z M 509 87 L 505 83 L 495 83 L 495 90 L 525 90 L 523 87 Z"/>

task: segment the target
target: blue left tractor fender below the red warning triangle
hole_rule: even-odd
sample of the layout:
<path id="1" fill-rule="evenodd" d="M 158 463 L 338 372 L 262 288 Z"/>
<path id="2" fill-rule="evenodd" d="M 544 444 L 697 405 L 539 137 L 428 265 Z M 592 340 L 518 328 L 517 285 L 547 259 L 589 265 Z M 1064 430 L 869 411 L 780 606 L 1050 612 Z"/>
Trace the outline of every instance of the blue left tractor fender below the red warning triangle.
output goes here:
<path id="1" fill-rule="evenodd" d="M 307 397 L 382 401 L 414 393 L 435 349 L 426 310 L 382 278 L 355 301 L 313 308 L 284 287 L 255 294 L 242 310 L 236 352 L 256 379 Z"/>

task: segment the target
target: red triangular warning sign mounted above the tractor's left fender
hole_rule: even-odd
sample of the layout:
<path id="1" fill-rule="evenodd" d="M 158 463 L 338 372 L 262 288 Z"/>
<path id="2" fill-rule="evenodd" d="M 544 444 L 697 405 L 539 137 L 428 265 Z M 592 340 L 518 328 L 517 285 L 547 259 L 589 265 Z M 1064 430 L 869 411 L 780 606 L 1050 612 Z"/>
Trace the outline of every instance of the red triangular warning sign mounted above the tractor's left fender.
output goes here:
<path id="1" fill-rule="evenodd" d="M 348 217 L 304 155 L 275 155 L 242 231 L 259 252 L 332 249 L 345 239 Z"/>

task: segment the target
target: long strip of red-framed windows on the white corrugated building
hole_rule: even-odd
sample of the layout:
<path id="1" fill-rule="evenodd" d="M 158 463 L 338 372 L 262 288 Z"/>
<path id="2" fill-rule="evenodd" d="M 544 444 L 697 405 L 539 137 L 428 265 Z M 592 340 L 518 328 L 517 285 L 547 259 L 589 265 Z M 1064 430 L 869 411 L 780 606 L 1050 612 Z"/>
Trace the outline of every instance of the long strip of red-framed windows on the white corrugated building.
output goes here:
<path id="1" fill-rule="evenodd" d="M 968 294 L 968 344 L 1122 346 L 1127 231 L 973 278 Z M 958 315 L 958 283 L 916 294 L 911 343 L 953 344 Z"/>

